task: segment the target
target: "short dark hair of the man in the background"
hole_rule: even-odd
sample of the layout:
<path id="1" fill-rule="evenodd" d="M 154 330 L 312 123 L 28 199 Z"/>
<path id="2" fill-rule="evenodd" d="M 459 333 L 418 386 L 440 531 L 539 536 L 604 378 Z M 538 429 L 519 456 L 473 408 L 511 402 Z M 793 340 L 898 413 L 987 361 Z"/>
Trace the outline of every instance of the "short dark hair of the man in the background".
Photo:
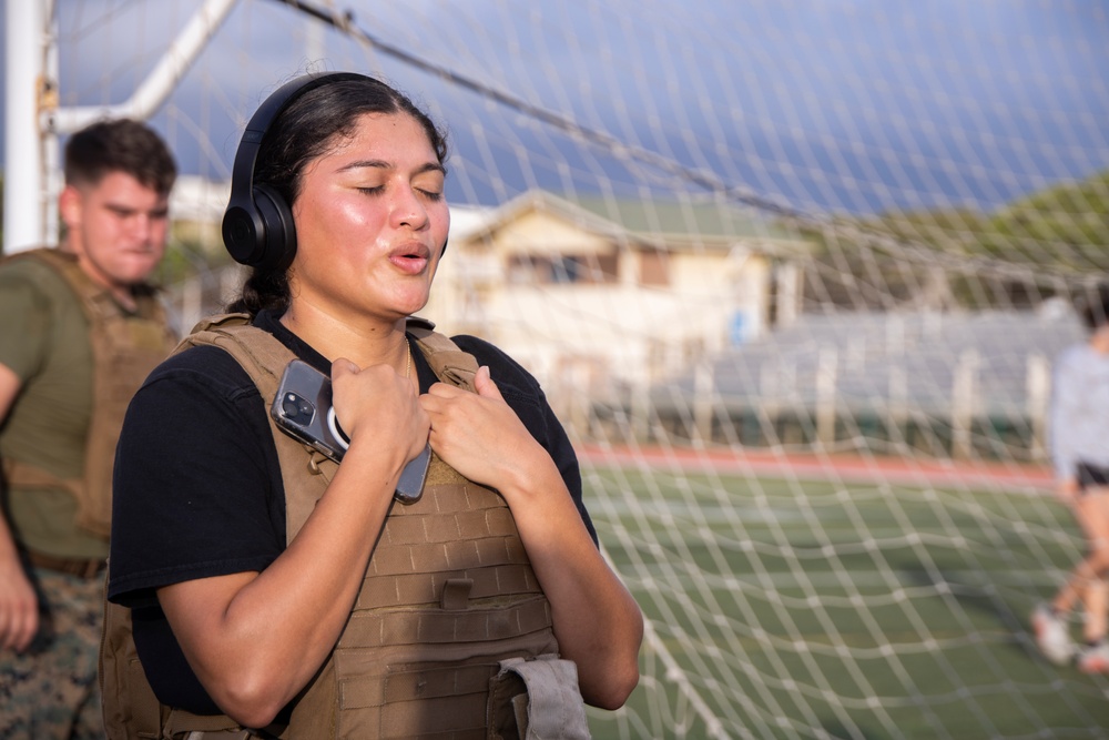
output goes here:
<path id="1" fill-rule="evenodd" d="M 113 172 L 125 172 L 161 195 L 167 195 L 177 179 L 165 142 L 139 121 L 98 121 L 65 142 L 67 184 L 95 185 Z"/>

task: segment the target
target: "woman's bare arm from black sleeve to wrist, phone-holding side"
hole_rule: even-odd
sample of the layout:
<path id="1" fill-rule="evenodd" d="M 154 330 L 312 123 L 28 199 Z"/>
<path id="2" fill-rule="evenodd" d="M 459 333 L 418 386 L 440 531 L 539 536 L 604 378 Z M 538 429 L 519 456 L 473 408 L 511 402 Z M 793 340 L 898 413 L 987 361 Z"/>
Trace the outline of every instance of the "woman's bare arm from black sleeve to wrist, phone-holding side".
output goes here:
<path id="1" fill-rule="evenodd" d="M 304 527 L 265 570 L 159 594 L 197 678 L 247 727 L 268 723 L 308 683 L 349 617 L 400 469 L 385 453 L 362 452 L 352 445 Z M 199 615 L 202 599 L 224 607 Z"/>

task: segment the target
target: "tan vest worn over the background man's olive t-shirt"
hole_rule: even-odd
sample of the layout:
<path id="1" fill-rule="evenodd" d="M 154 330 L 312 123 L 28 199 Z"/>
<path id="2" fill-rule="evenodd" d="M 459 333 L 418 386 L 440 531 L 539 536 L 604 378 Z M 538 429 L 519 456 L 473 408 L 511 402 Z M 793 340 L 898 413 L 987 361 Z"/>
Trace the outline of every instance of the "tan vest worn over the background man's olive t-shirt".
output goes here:
<path id="1" fill-rule="evenodd" d="M 170 354 L 176 337 L 155 297 L 139 296 L 135 313 L 124 313 L 108 291 L 84 274 L 77 255 L 43 247 L 6 257 L 23 259 L 52 267 L 80 298 L 92 346 L 92 419 L 80 479 L 62 479 L 42 468 L 8 459 L 3 462 L 4 479 L 20 488 L 69 490 L 78 500 L 78 525 L 106 538 L 112 529 L 112 468 L 123 416 L 131 397 Z"/>

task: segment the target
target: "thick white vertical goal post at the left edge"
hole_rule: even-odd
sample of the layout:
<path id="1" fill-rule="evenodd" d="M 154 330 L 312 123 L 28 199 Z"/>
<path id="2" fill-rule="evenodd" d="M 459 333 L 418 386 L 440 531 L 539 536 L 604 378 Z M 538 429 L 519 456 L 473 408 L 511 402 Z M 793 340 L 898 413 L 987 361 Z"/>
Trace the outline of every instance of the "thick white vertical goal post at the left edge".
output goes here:
<path id="1" fill-rule="evenodd" d="M 44 6 L 40 0 L 4 2 L 4 254 L 39 246 L 45 236 L 45 174 L 38 125 Z"/>

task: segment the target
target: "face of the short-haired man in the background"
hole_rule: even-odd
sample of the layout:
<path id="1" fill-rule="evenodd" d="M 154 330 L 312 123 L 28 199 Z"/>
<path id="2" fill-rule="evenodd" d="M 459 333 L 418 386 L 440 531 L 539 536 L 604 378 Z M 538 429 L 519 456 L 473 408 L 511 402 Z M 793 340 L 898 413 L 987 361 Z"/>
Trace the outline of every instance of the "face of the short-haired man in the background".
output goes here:
<path id="1" fill-rule="evenodd" d="M 165 254 L 169 196 L 130 174 L 112 172 L 95 185 L 67 185 L 61 214 L 81 266 L 115 293 L 146 280 Z"/>

